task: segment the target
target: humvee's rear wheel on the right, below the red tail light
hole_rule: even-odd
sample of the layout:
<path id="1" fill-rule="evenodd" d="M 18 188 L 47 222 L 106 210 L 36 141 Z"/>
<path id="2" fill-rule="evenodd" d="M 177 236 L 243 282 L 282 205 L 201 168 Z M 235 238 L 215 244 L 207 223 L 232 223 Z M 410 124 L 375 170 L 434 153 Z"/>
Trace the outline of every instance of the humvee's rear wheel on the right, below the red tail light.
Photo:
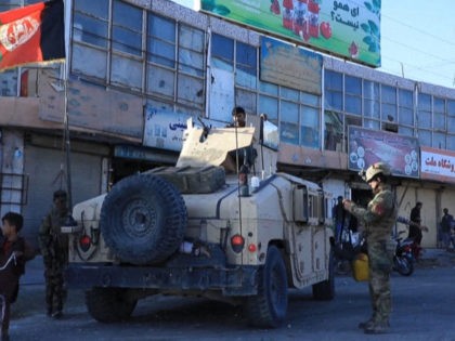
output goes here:
<path id="1" fill-rule="evenodd" d="M 276 328 L 287 313 L 287 274 L 280 250 L 271 246 L 265 265 L 258 276 L 258 293 L 245 304 L 249 323 L 262 328 Z"/>

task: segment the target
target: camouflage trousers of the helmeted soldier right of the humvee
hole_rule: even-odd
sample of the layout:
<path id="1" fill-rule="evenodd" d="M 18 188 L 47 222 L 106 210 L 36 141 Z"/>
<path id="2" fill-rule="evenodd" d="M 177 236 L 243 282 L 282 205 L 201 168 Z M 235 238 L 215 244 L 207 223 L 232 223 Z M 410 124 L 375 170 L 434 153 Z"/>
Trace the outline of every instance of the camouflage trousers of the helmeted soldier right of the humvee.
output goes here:
<path id="1" fill-rule="evenodd" d="M 393 253 L 381 241 L 368 241 L 369 258 L 369 298 L 372 301 L 373 320 L 388 323 L 392 309 L 390 292 L 390 272 Z"/>

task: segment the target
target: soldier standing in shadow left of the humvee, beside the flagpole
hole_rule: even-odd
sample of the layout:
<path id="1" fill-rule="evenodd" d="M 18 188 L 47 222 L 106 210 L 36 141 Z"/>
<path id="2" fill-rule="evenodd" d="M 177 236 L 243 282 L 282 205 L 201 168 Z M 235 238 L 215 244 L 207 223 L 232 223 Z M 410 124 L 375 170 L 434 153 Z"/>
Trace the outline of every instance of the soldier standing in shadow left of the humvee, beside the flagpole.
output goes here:
<path id="1" fill-rule="evenodd" d="M 68 262 L 68 237 L 61 233 L 61 226 L 68 215 L 66 198 L 65 191 L 54 192 L 54 207 L 39 229 L 39 246 L 44 261 L 47 314 L 54 318 L 62 317 L 66 298 L 63 275 Z"/>

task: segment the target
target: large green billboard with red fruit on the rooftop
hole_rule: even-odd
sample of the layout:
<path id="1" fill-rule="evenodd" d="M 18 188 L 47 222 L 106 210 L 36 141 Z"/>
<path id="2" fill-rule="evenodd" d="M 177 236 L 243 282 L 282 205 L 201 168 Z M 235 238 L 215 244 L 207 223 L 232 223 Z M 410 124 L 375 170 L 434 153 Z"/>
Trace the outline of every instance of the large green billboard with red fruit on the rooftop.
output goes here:
<path id="1" fill-rule="evenodd" d="M 380 66 L 380 0 L 202 0 L 200 10 L 353 62 Z"/>

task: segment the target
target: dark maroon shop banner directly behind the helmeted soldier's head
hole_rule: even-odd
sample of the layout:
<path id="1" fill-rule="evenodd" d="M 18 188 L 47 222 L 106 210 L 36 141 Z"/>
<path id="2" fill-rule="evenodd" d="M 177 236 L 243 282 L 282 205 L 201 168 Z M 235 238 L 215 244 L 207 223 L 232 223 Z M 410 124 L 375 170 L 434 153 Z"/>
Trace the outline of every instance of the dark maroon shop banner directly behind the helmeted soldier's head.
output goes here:
<path id="1" fill-rule="evenodd" d="M 416 137 L 349 126 L 348 168 L 367 169 L 375 162 L 386 162 L 392 174 L 419 176 L 419 144 Z"/>

